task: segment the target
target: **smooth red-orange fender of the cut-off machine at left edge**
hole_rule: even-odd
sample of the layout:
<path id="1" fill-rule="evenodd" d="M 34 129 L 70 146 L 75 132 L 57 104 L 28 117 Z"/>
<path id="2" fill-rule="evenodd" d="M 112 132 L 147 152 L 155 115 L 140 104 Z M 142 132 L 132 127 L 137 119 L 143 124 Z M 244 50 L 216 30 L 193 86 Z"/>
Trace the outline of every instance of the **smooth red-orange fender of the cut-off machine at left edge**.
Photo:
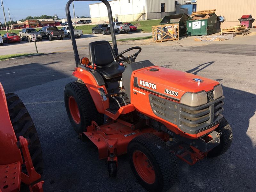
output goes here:
<path id="1" fill-rule="evenodd" d="M 0 164 L 23 162 L 10 120 L 4 88 L 0 83 Z"/>

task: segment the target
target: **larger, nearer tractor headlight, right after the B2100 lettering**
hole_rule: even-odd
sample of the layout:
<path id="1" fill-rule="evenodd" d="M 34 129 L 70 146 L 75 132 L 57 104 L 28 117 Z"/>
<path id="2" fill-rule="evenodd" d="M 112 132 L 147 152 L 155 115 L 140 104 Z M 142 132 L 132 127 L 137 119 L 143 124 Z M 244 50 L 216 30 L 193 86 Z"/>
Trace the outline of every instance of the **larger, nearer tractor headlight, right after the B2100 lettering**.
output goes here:
<path id="1" fill-rule="evenodd" d="M 207 103 L 207 94 L 205 91 L 198 93 L 187 92 L 181 97 L 180 103 L 190 107 L 204 105 Z"/>

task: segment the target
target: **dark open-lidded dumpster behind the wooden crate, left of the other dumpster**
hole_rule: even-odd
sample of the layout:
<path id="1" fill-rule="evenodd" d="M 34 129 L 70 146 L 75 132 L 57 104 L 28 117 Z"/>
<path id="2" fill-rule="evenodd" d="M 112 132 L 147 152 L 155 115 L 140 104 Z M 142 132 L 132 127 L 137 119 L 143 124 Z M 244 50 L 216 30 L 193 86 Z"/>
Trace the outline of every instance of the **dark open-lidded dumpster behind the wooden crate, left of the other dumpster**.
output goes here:
<path id="1" fill-rule="evenodd" d="M 182 14 L 174 14 L 174 15 L 166 15 L 164 16 L 163 20 L 160 22 L 160 25 L 163 24 L 175 24 L 179 23 L 179 36 L 186 35 L 186 21 L 190 17 L 186 13 Z"/>

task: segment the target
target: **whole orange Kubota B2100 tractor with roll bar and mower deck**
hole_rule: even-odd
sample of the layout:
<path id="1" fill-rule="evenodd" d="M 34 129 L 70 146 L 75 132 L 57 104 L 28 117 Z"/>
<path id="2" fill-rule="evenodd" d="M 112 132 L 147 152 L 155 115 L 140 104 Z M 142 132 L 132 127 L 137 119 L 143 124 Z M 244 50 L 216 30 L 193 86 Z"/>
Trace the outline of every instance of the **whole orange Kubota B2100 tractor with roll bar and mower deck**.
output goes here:
<path id="1" fill-rule="evenodd" d="M 140 184 L 166 191 L 179 171 L 176 157 L 192 165 L 228 150 L 232 130 L 222 115 L 224 96 L 217 81 L 148 60 L 135 62 L 140 47 L 118 53 L 112 22 L 113 48 L 107 41 L 92 42 L 90 60 L 80 62 L 69 11 L 73 1 L 66 14 L 78 80 L 65 86 L 66 110 L 80 138 L 91 140 L 100 159 L 108 159 L 109 176 L 116 176 L 117 156 L 128 153 Z M 101 1 L 111 21 L 109 3 Z M 138 51 L 125 57 L 131 50 Z"/>

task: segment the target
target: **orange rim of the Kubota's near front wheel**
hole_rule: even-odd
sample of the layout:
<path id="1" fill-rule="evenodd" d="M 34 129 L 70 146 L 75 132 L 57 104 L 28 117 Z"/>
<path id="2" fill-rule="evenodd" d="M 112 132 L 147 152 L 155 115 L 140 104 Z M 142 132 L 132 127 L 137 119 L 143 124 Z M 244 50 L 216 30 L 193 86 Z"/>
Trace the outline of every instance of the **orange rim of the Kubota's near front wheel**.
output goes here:
<path id="1" fill-rule="evenodd" d="M 148 157 L 141 151 L 134 151 L 132 160 L 141 179 L 148 184 L 153 184 L 156 180 L 156 174 Z"/>

